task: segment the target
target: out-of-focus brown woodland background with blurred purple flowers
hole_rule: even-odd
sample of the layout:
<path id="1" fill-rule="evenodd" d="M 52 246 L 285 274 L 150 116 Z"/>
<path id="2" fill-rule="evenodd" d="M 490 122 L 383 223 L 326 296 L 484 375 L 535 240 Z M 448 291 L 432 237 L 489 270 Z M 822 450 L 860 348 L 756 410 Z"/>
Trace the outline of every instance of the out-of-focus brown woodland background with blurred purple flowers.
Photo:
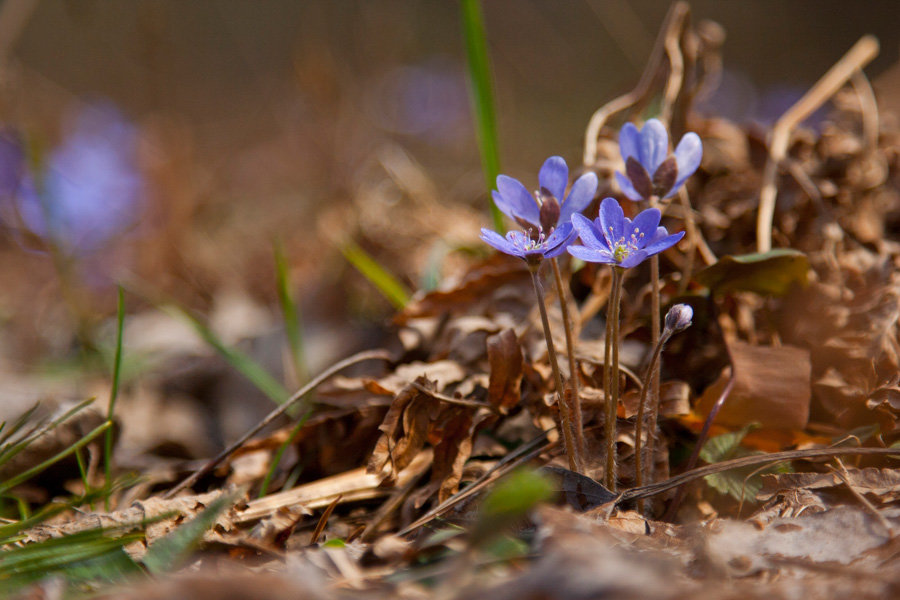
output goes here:
<path id="1" fill-rule="evenodd" d="M 771 124 L 868 33 L 867 73 L 898 107 L 894 1 L 691 6 L 727 35 L 708 114 Z M 501 168 L 532 181 L 551 154 L 580 162 L 591 113 L 636 83 L 668 4 L 483 9 Z M 457 2 L 6 0 L 0 124 L 5 372 L 87 343 L 118 282 L 129 312 L 174 301 L 228 341 L 277 329 L 276 241 L 315 372 L 377 345 L 394 310 L 348 248 L 410 291 L 451 276 L 456 250 L 485 252 Z"/>

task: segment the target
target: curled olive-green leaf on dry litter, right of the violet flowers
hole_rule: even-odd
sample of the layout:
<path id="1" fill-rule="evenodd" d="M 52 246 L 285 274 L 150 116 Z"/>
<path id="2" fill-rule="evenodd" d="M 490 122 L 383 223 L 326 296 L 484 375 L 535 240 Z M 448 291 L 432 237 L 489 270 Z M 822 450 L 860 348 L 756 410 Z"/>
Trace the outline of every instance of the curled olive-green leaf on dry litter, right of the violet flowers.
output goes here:
<path id="1" fill-rule="evenodd" d="M 695 279 L 715 295 L 747 291 L 783 296 L 795 284 L 806 285 L 809 259 L 790 248 L 729 255 L 698 272 Z"/>

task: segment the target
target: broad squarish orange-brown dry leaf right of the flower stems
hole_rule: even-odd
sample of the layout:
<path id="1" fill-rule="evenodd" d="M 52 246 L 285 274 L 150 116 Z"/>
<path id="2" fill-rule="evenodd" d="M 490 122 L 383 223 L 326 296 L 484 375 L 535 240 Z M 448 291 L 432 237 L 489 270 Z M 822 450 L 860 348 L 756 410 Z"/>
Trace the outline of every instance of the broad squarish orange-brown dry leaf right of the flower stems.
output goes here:
<path id="1" fill-rule="evenodd" d="M 734 389 L 716 417 L 723 425 L 803 429 L 809 420 L 809 352 L 792 346 L 728 344 L 734 361 Z M 728 380 L 723 375 L 703 392 L 697 410 L 709 413 Z"/>

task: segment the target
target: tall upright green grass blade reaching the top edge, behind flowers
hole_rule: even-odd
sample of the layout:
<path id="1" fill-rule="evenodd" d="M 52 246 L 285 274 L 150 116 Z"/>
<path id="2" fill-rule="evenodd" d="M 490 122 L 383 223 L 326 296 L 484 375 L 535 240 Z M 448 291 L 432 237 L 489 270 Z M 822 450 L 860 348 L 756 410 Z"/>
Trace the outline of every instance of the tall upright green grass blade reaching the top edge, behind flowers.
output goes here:
<path id="1" fill-rule="evenodd" d="M 461 0 L 463 38 L 469 74 L 469 90 L 475 113 L 475 132 L 481 152 L 481 169 L 488 192 L 494 189 L 500 174 L 500 145 L 497 141 L 497 118 L 494 114 L 494 93 L 491 82 L 491 63 L 487 54 L 484 16 L 479 0 Z M 490 202 L 494 228 L 504 231 L 503 215 Z"/>

